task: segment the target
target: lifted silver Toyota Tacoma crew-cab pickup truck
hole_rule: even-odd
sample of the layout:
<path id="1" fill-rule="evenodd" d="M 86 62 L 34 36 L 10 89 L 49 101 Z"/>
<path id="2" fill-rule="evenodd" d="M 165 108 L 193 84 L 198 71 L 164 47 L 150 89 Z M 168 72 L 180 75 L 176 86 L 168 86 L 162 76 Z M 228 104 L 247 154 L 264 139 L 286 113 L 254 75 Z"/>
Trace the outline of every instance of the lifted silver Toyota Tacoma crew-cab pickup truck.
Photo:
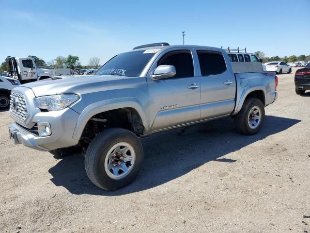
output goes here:
<path id="1" fill-rule="evenodd" d="M 139 137 L 226 116 L 238 132 L 258 133 L 277 84 L 275 72 L 234 72 L 222 49 L 150 44 L 116 55 L 94 75 L 16 87 L 9 131 L 15 144 L 53 154 L 78 148 L 90 180 L 114 190 L 140 170 Z"/>

